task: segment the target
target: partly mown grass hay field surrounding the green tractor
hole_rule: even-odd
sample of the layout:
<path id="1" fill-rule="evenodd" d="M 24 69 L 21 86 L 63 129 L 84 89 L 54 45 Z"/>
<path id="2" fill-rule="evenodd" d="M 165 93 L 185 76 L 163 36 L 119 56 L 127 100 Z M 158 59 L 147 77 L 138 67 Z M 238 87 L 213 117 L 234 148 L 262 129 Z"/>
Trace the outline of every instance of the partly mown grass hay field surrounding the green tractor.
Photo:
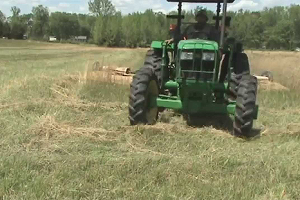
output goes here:
<path id="1" fill-rule="evenodd" d="M 129 126 L 129 86 L 84 80 L 145 51 L 0 40 L 0 199 L 299 198 L 298 54 L 248 52 L 290 90 L 259 89 L 260 136 L 242 140 L 171 111 Z"/>

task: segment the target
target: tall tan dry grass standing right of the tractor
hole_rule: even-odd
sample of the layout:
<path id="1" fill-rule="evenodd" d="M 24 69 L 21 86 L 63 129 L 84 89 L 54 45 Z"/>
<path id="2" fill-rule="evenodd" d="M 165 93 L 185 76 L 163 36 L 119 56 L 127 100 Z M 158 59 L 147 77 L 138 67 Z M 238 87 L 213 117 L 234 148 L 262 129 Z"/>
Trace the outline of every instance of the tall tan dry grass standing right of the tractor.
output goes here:
<path id="1" fill-rule="evenodd" d="M 274 82 L 296 90 L 300 85 L 300 53 L 288 51 L 246 51 L 251 73 L 259 75 L 268 70 L 274 76 Z"/>

